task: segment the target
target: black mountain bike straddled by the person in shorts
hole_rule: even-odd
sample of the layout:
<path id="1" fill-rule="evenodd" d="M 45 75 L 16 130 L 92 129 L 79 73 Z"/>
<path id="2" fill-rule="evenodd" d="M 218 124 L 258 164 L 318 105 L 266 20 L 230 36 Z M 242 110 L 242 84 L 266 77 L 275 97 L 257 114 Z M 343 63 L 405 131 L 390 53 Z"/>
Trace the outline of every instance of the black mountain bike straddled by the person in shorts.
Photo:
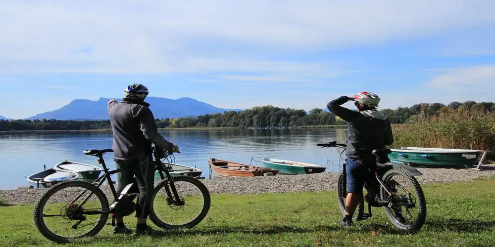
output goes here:
<path id="1" fill-rule="evenodd" d="M 332 141 L 317 146 L 343 148 L 345 151 L 347 143 Z M 368 194 L 361 195 L 353 219 L 365 220 L 372 216 L 372 206 L 383 207 L 398 229 L 406 232 L 421 229 L 426 220 L 426 201 L 423 190 L 414 176 L 420 176 L 422 173 L 414 167 L 390 162 L 390 149 L 373 150 L 372 153 L 376 157 L 377 166 L 370 168 L 370 176 L 365 183 Z M 347 198 L 346 163 L 343 164 L 343 171 L 337 183 L 338 202 L 344 216 Z M 376 194 L 372 193 L 373 191 Z M 364 201 L 368 203 L 368 213 L 364 213 Z"/>

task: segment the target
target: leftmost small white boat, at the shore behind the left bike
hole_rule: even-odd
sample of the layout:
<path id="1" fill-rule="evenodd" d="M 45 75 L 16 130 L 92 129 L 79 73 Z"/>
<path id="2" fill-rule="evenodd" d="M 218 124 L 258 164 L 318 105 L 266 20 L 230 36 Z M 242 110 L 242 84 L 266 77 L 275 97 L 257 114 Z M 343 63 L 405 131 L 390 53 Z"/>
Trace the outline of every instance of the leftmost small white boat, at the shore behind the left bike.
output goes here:
<path id="1" fill-rule="evenodd" d="M 79 174 L 74 171 L 49 168 L 26 177 L 35 188 L 48 188 L 57 183 L 76 180 Z"/>

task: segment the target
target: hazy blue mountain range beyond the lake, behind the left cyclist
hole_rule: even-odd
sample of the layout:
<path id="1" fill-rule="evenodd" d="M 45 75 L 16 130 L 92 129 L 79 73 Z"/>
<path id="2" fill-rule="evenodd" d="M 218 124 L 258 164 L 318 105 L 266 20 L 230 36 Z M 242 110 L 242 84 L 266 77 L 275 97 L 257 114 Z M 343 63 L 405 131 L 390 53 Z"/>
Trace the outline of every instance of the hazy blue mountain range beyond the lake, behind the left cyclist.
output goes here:
<path id="1" fill-rule="evenodd" d="M 115 98 L 120 101 L 119 98 Z M 68 105 L 46 113 L 27 118 L 35 119 L 57 119 L 57 120 L 107 120 L 107 98 L 98 100 L 75 99 Z M 241 109 L 223 109 L 192 98 L 167 99 L 158 97 L 147 97 L 146 102 L 157 119 L 182 118 L 187 116 L 198 116 L 205 114 L 223 113 L 224 111 L 241 111 Z"/>

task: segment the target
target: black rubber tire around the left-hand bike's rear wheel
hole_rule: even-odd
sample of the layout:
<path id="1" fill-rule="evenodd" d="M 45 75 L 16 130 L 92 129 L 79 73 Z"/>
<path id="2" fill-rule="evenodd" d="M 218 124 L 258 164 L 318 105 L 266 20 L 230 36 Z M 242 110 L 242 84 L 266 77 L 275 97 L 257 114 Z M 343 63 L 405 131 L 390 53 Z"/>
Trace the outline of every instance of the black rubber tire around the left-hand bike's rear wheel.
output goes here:
<path id="1" fill-rule="evenodd" d="M 108 199 L 106 198 L 105 194 L 101 191 L 101 189 L 99 189 L 97 186 L 95 186 L 91 183 L 84 182 L 84 181 L 66 181 L 66 182 L 62 182 L 62 183 L 54 185 L 43 195 L 43 197 L 40 199 L 40 201 L 36 204 L 35 209 L 34 209 L 34 217 L 33 218 L 34 218 L 34 224 L 36 225 L 36 228 L 38 229 L 38 231 L 40 231 L 40 233 L 45 238 L 47 238 L 50 241 L 55 242 L 55 243 L 64 244 L 64 243 L 70 242 L 73 239 L 95 236 L 96 234 L 99 233 L 99 231 L 101 231 L 101 229 L 103 229 L 103 227 L 105 226 L 106 221 L 108 219 L 108 213 L 100 214 L 100 218 L 98 220 L 98 223 L 92 229 L 90 229 L 87 233 L 82 234 L 82 235 L 77 236 L 77 237 L 66 238 L 66 237 L 58 236 L 55 233 L 51 232 L 47 228 L 45 221 L 43 220 L 43 209 L 44 209 L 45 204 L 47 203 L 48 199 L 51 196 L 53 196 L 53 194 L 55 194 L 59 190 L 69 188 L 69 187 L 82 187 L 82 188 L 90 190 L 99 199 L 102 209 L 108 208 Z"/>

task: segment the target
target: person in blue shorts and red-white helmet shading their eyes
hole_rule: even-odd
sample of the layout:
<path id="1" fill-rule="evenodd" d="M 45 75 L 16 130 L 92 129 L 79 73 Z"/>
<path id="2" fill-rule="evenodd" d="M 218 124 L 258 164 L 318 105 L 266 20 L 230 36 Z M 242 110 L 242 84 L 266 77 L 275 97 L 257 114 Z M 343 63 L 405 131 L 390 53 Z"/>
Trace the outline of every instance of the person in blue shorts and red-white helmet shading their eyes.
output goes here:
<path id="1" fill-rule="evenodd" d="M 357 111 L 342 107 L 347 101 L 354 101 Z M 366 201 L 376 206 L 378 198 L 376 180 L 370 176 L 369 169 L 376 167 L 373 149 L 384 148 L 394 142 L 392 127 L 385 114 L 377 110 L 380 97 L 372 92 L 359 92 L 354 97 L 341 96 L 327 104 L 330 112 L 348 124 L 346 148 L 346 172 L 348 194 L 346 198 L 343 226 L 352 225 L 352 215 L 356 210 L 363 186 L 366 182 Z M 371 191 L 369 191 L 371 190 Z"/>

